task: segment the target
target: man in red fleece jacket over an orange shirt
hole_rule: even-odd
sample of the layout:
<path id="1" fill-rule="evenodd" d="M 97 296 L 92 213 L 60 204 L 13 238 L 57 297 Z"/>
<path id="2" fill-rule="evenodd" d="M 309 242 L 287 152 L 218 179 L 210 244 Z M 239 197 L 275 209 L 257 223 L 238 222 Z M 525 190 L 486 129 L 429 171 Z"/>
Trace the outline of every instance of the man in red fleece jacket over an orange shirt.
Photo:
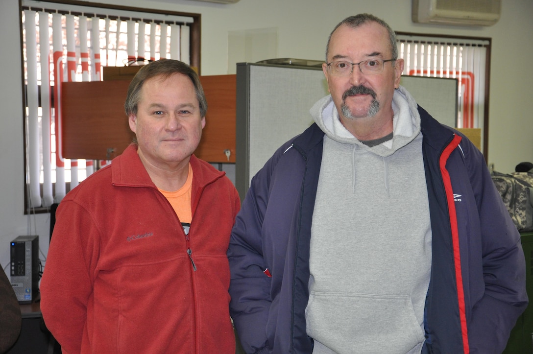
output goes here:
<path id="1" fill-rule="evenodd" d="M 206 110 L 189 65 L 145 65 L 125 103 L 135 142 L 60 202 L 41 310 L 63 353 L 235 353 L 226 251 L 240 201 L 192 154 Z"/>

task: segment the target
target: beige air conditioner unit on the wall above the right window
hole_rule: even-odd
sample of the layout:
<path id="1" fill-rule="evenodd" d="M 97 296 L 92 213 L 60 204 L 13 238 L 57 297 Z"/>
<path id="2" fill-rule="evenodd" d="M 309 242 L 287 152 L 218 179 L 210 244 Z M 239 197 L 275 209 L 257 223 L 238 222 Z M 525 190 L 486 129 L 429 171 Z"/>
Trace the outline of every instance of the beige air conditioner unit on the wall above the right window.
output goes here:
<path id="1" fill-rule="evenodd" d="M 413 0 L 413 22 L 492 26 L 502 12 L 501 0 Z"/>

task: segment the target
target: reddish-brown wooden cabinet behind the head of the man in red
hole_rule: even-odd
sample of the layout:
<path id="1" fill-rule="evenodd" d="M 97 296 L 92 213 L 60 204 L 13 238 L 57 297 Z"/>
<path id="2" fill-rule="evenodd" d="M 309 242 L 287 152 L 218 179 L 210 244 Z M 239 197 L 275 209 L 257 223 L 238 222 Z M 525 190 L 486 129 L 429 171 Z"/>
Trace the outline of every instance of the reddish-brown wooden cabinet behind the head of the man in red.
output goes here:
<path id="1" fill-rule="evenodd" d="M 208 162 L 235 163 L 236 75 L 201 76 L 200 81 L 207 115 L 195 155 Z M 129 84 L 112 79 L 61 85 L 63 158 L 110 160 L 126 149 L 134 137 L 124 113 Z"/>

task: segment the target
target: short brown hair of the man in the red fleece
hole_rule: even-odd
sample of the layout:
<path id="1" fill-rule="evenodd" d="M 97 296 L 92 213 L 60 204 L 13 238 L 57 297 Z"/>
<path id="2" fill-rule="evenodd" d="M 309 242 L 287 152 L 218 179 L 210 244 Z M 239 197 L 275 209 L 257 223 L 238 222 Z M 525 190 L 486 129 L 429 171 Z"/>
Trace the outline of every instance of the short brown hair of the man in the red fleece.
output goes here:
<path id="1" fill-rule="evenodd" d="M 207 113 L 207 100 L 205 98 L 204 88 L 201 86 L 197 73 L 184 62 L 173 59 L 159 59 L 143 65 L 143 67 L 139 69 L 130 83 L 130 86 L 128 86 L 126 102 L 124 103 L 126 116 L 129 117 L 130 114 L 137 114 L 139 101 L 141 100 L 141 88 L 146 80 L 156 76 L 168 78 L 175 73 L 183 74 L 191 79 L 192 85 L 195 87 L 196 98 L 198 98 L 198 103 L 200 105 L 200 117 L 204 118 Z"/>

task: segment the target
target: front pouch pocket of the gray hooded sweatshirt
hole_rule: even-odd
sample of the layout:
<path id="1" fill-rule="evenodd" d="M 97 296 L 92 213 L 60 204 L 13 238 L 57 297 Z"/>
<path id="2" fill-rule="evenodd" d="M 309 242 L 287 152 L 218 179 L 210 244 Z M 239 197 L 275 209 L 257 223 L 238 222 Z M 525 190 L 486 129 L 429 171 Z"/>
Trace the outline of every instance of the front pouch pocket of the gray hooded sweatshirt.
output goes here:
<path id="1" fill-rule="evenodd" d="M 337 353 L 420 352 L 424 332 L 407 295 L 311 291 L 307 332 Z"/>

